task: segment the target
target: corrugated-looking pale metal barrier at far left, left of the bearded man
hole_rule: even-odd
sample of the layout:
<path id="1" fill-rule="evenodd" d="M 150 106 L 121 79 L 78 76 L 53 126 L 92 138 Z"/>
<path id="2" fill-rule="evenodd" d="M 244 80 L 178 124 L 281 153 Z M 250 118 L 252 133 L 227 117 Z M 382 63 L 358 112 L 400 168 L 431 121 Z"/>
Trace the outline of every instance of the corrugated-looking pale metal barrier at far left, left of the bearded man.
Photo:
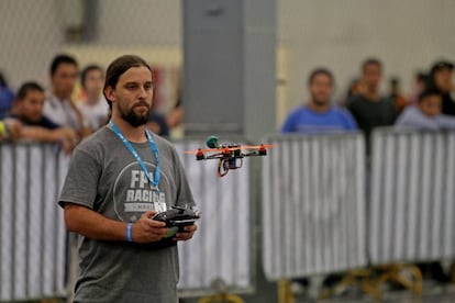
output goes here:
<path id="1" fill-rule="evenodd" d="M 67 158 L 51 145 L 0 144 L 0 300 L 66 294 L 66 232 L 56 207 Z"/>

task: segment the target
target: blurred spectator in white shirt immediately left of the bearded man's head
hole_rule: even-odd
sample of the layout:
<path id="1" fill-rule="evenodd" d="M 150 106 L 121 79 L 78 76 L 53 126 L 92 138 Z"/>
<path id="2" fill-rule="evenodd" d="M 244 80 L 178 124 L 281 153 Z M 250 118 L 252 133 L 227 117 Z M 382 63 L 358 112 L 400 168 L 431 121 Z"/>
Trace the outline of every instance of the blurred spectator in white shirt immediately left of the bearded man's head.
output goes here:
<path id="1" fill-rule="evenodd" d="M 104 71 L 98 65 L 89 65 L 80 74 L 80 83 L 86 100 L 78 102 L 78 109 L 84 115 L 87 125 L 97 131 L 104 125 L 109 117 L 109 105 L 102 94 Z"/>

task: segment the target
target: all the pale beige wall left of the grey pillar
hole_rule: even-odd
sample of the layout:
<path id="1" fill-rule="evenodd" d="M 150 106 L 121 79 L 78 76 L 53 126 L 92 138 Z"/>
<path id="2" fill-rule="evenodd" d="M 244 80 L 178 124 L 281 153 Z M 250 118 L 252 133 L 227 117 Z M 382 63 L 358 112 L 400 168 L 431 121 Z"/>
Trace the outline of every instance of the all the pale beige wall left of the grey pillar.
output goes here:
<path id="1" fill-rule="evenodd" d="M 0 0 L 0 70 L 13 88 L 30 79 L 47 86 L 52 58 L 62 49 L 77 48 L 65 44 L 63 1 Z M 96 41 L 84 49 L 180 47 L 180 0 L 98 1 Z"/>

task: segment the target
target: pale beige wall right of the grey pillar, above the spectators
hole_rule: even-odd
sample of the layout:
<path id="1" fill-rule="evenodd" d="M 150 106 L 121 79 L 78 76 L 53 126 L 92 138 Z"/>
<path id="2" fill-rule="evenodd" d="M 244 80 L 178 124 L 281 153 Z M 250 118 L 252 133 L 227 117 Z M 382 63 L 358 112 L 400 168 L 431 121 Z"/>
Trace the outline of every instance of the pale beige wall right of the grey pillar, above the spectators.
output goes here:
<path id="1" fill-rule="evenodd" d="M 385 76 L 401 77 L 409 92 L 417 69 L 440 57 L 455 60 L 452 0 L 278 0 L 277 10 L 278 41 L 292 54 L 289 106 L 307 97 L 317 66 L 331 68 L 344 92 L 360 61 L 377 56 Z"/>

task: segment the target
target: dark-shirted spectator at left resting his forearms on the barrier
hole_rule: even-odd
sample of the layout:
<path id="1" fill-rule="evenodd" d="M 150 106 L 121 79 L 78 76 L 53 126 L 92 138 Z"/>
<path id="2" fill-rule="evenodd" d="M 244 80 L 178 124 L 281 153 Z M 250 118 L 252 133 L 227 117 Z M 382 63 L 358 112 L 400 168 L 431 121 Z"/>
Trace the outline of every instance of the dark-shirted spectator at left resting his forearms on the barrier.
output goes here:
<path id="1" fill-rule="evenodd" d="M 44 89 L 38 83 L 25 82 L 19 88 L 11 116 L 22 123 L 21 138 L 59 143 L 65 153 L 71 152 L 77 143 L 76 132 L 46 117 L 44 102 Z"/>

